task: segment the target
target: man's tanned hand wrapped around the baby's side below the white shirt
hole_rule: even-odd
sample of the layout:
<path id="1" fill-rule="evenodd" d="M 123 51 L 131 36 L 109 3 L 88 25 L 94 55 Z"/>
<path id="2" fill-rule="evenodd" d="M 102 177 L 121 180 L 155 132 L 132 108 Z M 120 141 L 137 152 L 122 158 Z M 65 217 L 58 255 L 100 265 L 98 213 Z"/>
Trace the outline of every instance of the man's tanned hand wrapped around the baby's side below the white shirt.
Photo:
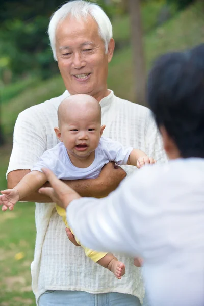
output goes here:
<path id="1" fill-rule="evenodd" d="M 107 196 L 118 187 L 126 175 L 127 173 L 114 162 L 106 164 L 96 179 L 98 180 L 98 186 L 101 192 L 99 192 L 95 197 Z"/>

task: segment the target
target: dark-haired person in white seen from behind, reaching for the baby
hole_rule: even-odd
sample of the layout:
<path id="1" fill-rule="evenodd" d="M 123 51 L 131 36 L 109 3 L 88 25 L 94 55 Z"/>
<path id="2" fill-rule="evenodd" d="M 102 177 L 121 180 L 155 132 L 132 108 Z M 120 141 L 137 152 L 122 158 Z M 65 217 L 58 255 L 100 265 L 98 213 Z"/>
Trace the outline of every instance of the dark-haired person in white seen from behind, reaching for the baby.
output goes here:
<path id="1" fill-rule="evenodd" d="M 168 165 L 141 169 L 103 199 L 81 198 L 44 169 L 55 190 L 39 192 L 67 209 L 87 247 L 144 259 L 150 306 L 203 306 L 204 44 L 156 61 L 148 103 Z"/>

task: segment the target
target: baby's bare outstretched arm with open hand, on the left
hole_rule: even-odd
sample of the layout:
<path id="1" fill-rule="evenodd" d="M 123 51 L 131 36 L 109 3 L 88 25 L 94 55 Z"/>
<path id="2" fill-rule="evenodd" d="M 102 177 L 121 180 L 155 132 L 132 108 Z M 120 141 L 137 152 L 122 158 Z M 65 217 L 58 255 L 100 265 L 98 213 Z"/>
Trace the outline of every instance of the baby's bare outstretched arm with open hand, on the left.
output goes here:
<path id="1" fill-rule="evenodd" d="M 13 210 L 17 201 L 42 187 L 46 181 L 46 176 L 40 171 L 32 171 L 23 176 L 21 181 L 13 189 L 1 191 L 0 205 L 3 205 L 2 210 L 6 211 L 7 208 Z"/>

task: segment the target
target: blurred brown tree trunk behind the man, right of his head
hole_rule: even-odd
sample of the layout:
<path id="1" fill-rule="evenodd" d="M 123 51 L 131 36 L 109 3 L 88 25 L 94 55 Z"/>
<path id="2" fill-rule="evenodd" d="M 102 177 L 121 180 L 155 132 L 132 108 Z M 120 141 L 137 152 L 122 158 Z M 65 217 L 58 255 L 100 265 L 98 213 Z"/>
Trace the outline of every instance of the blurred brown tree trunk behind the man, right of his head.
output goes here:
<path id="1" fill-rule="evenodd" d="M 140 0 L 129 0 L 133 47 L 134 95 L 137 104 L 146 105 L 146 74 Z"/>

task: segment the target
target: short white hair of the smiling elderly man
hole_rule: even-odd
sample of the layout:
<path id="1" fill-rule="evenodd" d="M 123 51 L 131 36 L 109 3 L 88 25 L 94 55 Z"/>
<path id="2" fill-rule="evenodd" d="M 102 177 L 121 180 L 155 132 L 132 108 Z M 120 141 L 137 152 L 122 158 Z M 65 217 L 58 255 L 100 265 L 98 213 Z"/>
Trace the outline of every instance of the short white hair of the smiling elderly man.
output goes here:
<path id="1" fill-rule="evenodd" d="M 53 51 L 54 59 L 57 61 L 56 55 L 56 29 L 58 24 L 63 21 L 67 16 L 76 19 L 86 18 L 91 16 L 98 24 L 98 33 L 105 43 L 105 52 L 108 52 L 108 45 L 113 37 L 112 24 L 106 13 L 95 3 L 84 0 L 74 0 L 65 3 L 58 9 L 52 16 L 49 27 L 48 35 L 50 45 Z"/>

